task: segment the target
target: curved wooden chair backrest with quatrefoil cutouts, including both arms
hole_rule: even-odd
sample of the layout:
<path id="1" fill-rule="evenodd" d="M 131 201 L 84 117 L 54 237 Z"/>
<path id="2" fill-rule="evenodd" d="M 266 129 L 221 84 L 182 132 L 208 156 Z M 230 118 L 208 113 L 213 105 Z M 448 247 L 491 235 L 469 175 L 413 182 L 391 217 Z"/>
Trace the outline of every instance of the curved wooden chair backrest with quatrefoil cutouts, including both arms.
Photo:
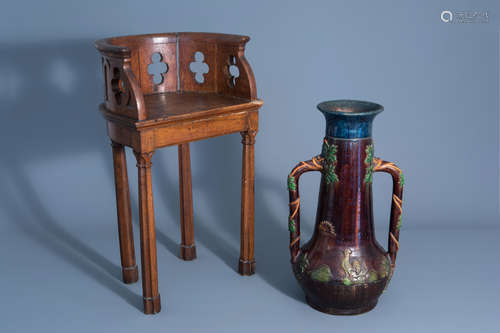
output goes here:
<path id="1" fill-rule="evenodd" d="M 106 108 L 143 120 L 143 95 L 189 91 L 254 100 L 255 79 L 244 55 L 249 39 L 184 32 L 99 40 Z"/>

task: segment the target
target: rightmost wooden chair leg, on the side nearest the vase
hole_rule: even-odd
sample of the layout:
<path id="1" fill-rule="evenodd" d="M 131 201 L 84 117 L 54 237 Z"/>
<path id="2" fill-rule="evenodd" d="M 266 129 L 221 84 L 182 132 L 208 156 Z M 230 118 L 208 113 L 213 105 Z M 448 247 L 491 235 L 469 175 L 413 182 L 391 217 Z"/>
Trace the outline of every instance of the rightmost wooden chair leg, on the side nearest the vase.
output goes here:
<path id="1" fill-rule="evenodd" d="M 256 131 L 242 132 L 243 168 L 241 175 L 241 247 L 238 272 L 255 273 L 254 258 L 254 144 Z"/>

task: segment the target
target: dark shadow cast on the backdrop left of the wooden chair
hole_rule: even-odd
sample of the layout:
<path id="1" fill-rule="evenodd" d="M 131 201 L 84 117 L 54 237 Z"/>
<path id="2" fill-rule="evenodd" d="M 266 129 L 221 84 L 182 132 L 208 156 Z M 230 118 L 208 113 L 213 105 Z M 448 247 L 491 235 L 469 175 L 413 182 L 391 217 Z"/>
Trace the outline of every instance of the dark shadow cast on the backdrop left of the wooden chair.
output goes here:
<path id="1" fill-rule="evenodd" d="M 35 188 L 27 171 L 40 163 L 70 160 L 80 154 L 111 156 L 97 111 L 102 99 L 99 72 L 100 60 L 92 40 L 0 47 L 0 103 L 3 121 L 9 124 L 2 129 L 0 141 L 0 209 L 34 242 L 142 310 L 141 297 L 121 282 L 120 267 L 70 232 L 74 221 L 62 223 L 52 216 L 50 212 L 58 209 L 59 202 L 54 199 L 50 206 L 44 204 L 40 197 L 44 189 Z M 54 175 L 57 168 L 65 167 L 54 165 Z M 83 169 L 74 171 L 76 178 L 92 176 Z M 112 169 L 109 179 L 113 179 Z M 53 182 L 66 191 L 63 195 L 75 190 L 65 187 L 57 176 Z M 75 206 L 81 207 L 76 216 L 92 209 Z"/>

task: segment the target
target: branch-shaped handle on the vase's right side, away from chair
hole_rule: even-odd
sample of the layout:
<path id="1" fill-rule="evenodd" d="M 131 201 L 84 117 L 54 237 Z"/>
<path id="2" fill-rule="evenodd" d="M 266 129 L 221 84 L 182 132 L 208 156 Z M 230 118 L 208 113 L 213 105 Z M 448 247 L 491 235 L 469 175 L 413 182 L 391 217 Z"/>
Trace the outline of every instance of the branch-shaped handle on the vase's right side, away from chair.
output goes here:
<path id="1" fill-rule="evenodd" d="M 401 217 L 403 214 L 404 176 L 403 172 L 396 164 L 377 157 L 373 158 L 373 172 L 387 172 L 392 176 L 392 205 L 387 253 L 391 257 L 391 265 L 392 268 L 394 268 L 396 264 L 396 255 L 399 250 L 399 229 L 401 228 Z"/>

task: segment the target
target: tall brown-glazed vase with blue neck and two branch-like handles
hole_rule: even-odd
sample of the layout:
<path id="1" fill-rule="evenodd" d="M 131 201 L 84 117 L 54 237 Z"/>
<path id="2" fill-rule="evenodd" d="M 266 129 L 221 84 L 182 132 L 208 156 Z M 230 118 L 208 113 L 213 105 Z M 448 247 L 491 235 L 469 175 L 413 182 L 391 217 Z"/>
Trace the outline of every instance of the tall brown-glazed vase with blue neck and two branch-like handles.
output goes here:
<path id="1" fill-rule="evenodd" d="M 372 121 L 379 104 L 336 100 L 320 103 L 326 137 L 320 155 L 300 162 L 288 176 L 290 254 L 293 272 L 313 308 L 340 315 L 375 307 L 396 263 L 404 178 L 391 162 L 373 156 Z M 314 234 L 300 247 L 299 177 L 320 171 Z M 389 251 L 376 241 L 372 175 L 393 179 Z"/>

